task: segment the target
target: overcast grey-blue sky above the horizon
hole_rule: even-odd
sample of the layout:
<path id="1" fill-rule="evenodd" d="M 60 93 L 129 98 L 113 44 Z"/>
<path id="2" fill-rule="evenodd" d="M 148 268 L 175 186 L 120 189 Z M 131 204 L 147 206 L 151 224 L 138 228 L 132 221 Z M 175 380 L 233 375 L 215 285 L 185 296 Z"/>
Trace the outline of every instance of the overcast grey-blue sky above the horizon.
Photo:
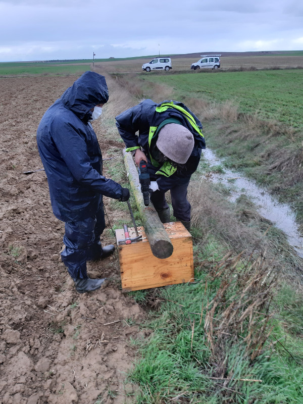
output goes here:
<path id="1" fill-rule="evenodd" d="M 299 0 L 0 0 L 0 62 L 301 49 Z"/>

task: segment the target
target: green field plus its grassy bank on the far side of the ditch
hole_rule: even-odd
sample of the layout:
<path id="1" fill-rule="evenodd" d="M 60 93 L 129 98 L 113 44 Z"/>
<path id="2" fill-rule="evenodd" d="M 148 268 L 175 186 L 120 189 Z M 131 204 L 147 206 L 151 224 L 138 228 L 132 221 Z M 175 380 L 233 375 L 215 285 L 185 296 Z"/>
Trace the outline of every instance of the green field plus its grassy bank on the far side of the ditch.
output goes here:
<path id="1" fill-rule="evenodd" d="M 173 87 L 173 98 L 187 98 L 192 108 L 200 99 L 214 103 L 218 111 L 226 102 L 236 105 L 242 114 L 232 122 L 223 116 L 205 121 L 201 111 L 207 147 L 225 159 L 224 165 L 244 171 L 290 204 L 298 223 L 303 223 L 303 182 L 297 163 L 303 141 L 302 69 L 153 75 L 142 82 L 145 88 L 145 83 Z"/>

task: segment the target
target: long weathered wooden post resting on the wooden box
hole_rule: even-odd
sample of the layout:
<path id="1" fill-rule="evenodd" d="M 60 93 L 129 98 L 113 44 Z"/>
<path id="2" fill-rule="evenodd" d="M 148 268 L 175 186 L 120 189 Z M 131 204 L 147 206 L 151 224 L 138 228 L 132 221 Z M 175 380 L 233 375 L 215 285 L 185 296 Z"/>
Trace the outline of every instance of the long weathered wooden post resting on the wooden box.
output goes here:
<path id="1" fill-rule="evenodd" d="M 131 153 L 123 149 L 123 158 L 126 171 L 128 173 L 128 180 L 136 201 L 151 252 L 153 252 L 153 255 L 157 258 L 168 258 L 173 254 L 173 244 L 159 219 L 154 205 L 151 203 L 151 201 L 149 202 L 149 206 L 146 207 L 144 205 L 138 171 L 133 162 Z"/>

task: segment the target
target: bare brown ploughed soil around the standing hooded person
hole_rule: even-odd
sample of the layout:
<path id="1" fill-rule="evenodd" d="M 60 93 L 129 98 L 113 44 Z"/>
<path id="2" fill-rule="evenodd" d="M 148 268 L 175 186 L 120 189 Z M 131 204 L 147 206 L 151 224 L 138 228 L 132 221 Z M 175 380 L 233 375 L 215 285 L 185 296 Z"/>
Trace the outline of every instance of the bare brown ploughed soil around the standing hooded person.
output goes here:
<path id="1" fill-rule="evenodd" d="M 37 126 L 76 78 L 0 79 L 1 404 L 134 402 L 125 383 L 136 354 L 130 338 L 148 331 L 136 325 L 142 309 L 121 290 L 117 252 L 88 263 L 88 274 L 107 285 L 78 294 L 60 259 L 64 223 L 53 215 L 46 175 L 23 174 L 42 168 Z M 97 134 L 106 158 L 112 141 Z M 110 220 L 117 215 L 107 210 Z"/>

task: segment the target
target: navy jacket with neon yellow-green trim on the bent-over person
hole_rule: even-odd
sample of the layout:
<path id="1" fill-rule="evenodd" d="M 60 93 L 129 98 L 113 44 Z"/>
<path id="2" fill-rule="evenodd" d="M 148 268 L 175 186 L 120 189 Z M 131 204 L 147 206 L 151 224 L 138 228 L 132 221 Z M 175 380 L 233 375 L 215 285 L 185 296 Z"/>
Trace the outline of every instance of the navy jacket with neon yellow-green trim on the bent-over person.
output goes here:
<path id="1" fill-rule="evenodd" d="M 188 123 L 188 120 L 184 115 L 175 109 L 168 109 L 164 112 L 157 112 L 156 108 L 160 107 L 163 103 L 168 101 L 163 101 L 160 104 L 154 103 L 151 99 L 144 99 L 141 103 L 132 107 L 122 114 L 116 117 L 116 126 L 118 128 L 119 134 L 124 140 L 126 148 L 135 148 L 140 146 L 148 160 L 148 171 L 151 175 L 151 179 L 157 180 L 159 189 L 166 192 L 167 190 L 173 188 L 177 184 L 186 183 L 191 175 L 197 169 L 199 160 L 201 157 L 201 150 L 205 149 L 205 139 L 199 135 L 192 126 Z M 196 125 L 202 129 L 201 122 L 195 117 L 195 115 L 182 103 L 173 101 L 175 105 L 184 108 L 189 112 L 195 120 Z M 164 177 L 163 175 L 156 174 L 158 168 L 151 164 L 149 159 L 149 149 L 148 149 L 148 134 L 149 128 L 151 126 L 159 126 L 164 120 L 174 118 L 177 119 L 185 128 L 187 128 L 194 137 L 194 147 L 192 149 L 191 155 L 186 162 L 184 168 L 178 169 L 177 172 L 172 174 L 170 177 Z M 138 131 L 138 135 L 136 132 Z"/>

